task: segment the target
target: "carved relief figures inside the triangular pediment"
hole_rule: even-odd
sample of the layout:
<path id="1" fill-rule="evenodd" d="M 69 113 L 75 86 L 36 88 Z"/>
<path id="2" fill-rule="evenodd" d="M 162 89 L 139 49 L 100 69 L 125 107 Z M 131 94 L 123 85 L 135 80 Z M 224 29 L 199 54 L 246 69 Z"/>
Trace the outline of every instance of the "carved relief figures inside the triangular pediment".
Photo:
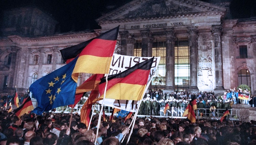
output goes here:
<path id="1" fill-rule="evenodd" d="M 135 17 L 147 17 L 147 16 L 159 16 L 170 14 L 183 14 L 191 13 L 193 9 L 191 7 L 177 5 L 172 1 L 166 3 L 165 0 L 152 0 L 142 4 L 137 10 L 130 11 L 124 15 L 125 18 Z"/>

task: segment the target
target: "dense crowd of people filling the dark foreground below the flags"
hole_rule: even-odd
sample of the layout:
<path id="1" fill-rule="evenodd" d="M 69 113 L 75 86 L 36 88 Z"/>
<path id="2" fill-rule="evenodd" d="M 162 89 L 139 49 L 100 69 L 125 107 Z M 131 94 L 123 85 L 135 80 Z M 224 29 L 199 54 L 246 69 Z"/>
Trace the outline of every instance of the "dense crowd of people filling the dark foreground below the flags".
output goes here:
<path id="1" fill-rule="evenodd" d="M 0 110 L 0 145 L 97 145 L 126 144 L 131 118 L 106 116 L 96 137 L 98 114 L 87 130 L 80 116 L 44 112 L 25 114 L 18 118 Z M 71 123 L 70 123 L 71 121 Z M 70 127 L 69 127 L 70 123 Z M 125 136 L 125 134 L 127 134 Z M 125 137 L 124 137 L 125 136 Z M 122 143 L 122 138 L 124 141 Z M 255 145 L 256 122 L 198 119 L 137 118 L 128 145 Z"/>

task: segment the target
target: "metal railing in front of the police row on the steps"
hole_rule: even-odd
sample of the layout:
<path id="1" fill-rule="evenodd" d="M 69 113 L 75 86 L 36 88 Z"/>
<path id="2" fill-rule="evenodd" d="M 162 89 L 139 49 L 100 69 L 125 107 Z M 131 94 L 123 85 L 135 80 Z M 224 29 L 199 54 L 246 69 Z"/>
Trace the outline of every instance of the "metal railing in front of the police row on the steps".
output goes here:
<path id="1" fill-rule="evenodd" d="M 95 111 L 94 114 L 100 112 L 100 104 L 94 104 L 93 107 L 95 106 Z M 81 113 L 81 109 L 82 109 L 83 105 L 82 104 L 76 104 L 76 106 L 73 109 L 73 113 Z M 92 107 L 92 108 L 93 108 Z M 108 107 L 108 106 L 104 106 L 103 107 L 105 114 L 106 115 L 111 115 L 112 114 L 112 108 Z M 166 114 L 164 114 L 164 107 L 160 108 L 160 112 L 159 112 L 159 116 L 154 116 L 154 117 L 171 117 L 171 118 L 186 118 L 186 117 L 182 117 L 184 111 L 186 108 L 184 107 L 171 107 L 170 109 L 167 110 Z M 69 106 L 62 106 L 62 107 L 58 107 L 56 108 L 56 113 L 70 113 L 72 110 L 71 107 Z M 226 109 L 215 109 L 215 113 L 213 113 L 213 111 L 210 111 L 209 108 L 198 108 L 195 113 L 197 116 L 197 119 L 199 118 L 205 118 L 205 119 L 220 119 L 224 112 L 226 111 Z M 239 119 L 239 109 L 230 109 L 229 110 L 230 116 L 228 115 L 228 118 L 233 119 L 233 120 L 238 120 Z M 153 116 L 153 115 L 143 115 L 140 114 L 138 115 L 140 117 L 142 116 Z"/>

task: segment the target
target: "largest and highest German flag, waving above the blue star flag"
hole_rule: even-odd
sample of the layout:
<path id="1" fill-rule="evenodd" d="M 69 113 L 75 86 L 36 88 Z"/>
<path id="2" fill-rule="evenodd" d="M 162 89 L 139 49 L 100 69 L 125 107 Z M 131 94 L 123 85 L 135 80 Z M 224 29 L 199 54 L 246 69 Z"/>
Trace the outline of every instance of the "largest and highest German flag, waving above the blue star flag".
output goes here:
<path id="1" fill-rule="evenodd" d="M 114 53 L 119 26 L 91 40 L 60 50 L 63 60 L 79 55 L 72 78 L 77 82 L 79 73 L 107 74 Z M 82 51 L 81 51 L 82 49 Z"/>

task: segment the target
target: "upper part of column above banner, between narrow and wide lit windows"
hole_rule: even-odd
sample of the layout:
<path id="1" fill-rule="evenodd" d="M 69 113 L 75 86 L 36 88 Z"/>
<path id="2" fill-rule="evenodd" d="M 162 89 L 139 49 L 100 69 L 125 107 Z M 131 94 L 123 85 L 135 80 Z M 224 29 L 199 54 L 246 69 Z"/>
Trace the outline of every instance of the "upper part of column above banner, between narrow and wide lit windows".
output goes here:
<path id="1" fill-rule="evenodd" d="M 151 57 L 152 56 L 152 33 L 150 30 L 141 30 L 142 37 L 142 57 Z"/>

